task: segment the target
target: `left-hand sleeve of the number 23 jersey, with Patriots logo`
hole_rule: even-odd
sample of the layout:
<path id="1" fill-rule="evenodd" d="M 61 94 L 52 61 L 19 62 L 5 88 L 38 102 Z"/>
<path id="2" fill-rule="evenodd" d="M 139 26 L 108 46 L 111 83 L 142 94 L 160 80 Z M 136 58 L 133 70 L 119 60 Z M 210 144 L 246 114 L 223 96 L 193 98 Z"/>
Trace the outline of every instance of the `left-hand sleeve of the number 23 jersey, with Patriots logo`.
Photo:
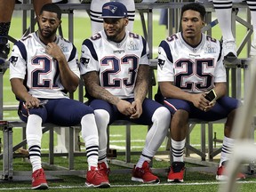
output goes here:
<path id="1" fill-rule="evenodd" d="M 99 61 L 97 53 L 94 49 L 92 41 L 86 39 L 82 44 L 81 58 L 80 58 L 80 73 L 84 75 L 91 71 L 99 71 Z"/>

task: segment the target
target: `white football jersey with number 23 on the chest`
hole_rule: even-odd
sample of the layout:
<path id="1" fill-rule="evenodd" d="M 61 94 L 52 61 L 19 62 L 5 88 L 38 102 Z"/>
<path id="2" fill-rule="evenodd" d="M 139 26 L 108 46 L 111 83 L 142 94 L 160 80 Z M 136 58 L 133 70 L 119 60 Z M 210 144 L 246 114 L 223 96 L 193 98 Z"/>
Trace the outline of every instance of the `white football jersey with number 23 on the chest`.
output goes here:
<path id="1" fill-rule="evenodd" d="M 100 86 L 124 99 L 134 97 L 139 66 L 149 65 L 148 44 L 142 36 L 126 32 L 120 43 L 108 41 L 102 30 L 85 39 L 80 59 L 81 75 L 99 72 Z"/>

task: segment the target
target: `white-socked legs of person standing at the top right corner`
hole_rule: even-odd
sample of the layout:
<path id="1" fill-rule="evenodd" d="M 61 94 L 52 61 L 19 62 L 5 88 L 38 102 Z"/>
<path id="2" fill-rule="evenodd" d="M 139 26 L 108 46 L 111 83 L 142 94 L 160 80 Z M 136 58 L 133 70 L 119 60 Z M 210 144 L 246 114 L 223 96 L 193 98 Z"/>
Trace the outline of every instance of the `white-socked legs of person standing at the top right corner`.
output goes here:
<path id="1" fill-rule="evenodd" d="M 204 3 L 205 1 L 211 1 L 213 3 L 217 19 L 220 24 L 223 40 L 223 52 L 225 59 L 235 59 L 236 53 L 236 39 L 232 33 L 231 25 L 231 12 L 233 3 L 240 3 L 245 0 L 196 0 L 196 2 Z M 246 4 L 250 9 L 252 18 L 253 37 L 250 48 L 250 56 L 256 57 L 256 1 L 246 0 Z"/>

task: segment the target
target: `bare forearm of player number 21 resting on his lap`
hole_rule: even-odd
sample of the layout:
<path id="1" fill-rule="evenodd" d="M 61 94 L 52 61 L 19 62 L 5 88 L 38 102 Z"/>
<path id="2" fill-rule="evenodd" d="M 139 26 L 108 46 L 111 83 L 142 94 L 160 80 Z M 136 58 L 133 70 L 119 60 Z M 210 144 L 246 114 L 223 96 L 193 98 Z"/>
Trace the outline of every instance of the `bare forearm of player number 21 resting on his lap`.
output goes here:
<path id="1" fill-rule="evenodd" d="M 23 80 L 20 78 L 12 78 L 11 79 L 12 92 L 18 97 L 20 100 L 25 101 L 25 105 L 27 108 L 38 108 L 39 102 L 37 98 L 30 95 L 23 85 Z"/>

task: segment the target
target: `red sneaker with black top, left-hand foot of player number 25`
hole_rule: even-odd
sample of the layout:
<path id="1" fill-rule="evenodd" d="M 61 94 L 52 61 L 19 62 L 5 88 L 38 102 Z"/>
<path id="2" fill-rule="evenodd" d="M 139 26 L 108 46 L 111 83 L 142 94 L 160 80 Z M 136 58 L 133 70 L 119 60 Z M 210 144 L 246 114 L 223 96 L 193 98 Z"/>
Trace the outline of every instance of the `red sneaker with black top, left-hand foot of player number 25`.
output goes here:
<path id="1" fill-rule="evenodd" d="M 185 172 L 184 162 L 173 162 L 168 173 L 168 182 L 183 182 Z"/>

